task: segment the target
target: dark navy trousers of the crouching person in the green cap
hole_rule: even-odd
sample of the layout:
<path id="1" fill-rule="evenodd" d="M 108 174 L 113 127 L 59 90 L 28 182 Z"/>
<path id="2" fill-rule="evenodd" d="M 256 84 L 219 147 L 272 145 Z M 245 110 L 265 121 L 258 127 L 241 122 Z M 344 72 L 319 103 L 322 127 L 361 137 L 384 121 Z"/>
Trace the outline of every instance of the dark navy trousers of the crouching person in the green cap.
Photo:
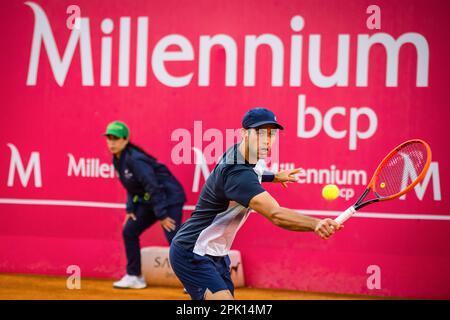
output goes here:
<path id="1" fill-rule="evenodd" d="M 173 205 L 167 208 L 169 217 L 175 220 L 176 230 L 168 232 L 164 230 L 169 245 L 176 232 L 180 228 L 183 213 L 183 204 Z M 153 212 L 151 205 L 139 203 L 134 212 L 136 220 L 128 219 L 122 232 L 125 251 L 127 254 L 127 274 L 139 276 L 141 274 L 141 246 L 139 242 L 140 235 L 150 228 L 155 222 L 159 223 L 158 218 Z"/>

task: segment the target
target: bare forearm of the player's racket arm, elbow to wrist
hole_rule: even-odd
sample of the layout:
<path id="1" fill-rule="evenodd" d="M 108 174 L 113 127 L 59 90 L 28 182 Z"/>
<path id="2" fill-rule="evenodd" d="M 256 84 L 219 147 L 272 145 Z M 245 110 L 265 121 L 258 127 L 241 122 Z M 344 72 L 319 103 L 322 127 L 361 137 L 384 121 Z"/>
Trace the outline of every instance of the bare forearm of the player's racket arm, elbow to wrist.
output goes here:
<path id="1" fill-rule="evenodd" d="M 271 221 L 275 225 L 287 230 L 314 231 L 320 220 L 301 215 L 291 209 L 279 207 L 271 215 Z"/>

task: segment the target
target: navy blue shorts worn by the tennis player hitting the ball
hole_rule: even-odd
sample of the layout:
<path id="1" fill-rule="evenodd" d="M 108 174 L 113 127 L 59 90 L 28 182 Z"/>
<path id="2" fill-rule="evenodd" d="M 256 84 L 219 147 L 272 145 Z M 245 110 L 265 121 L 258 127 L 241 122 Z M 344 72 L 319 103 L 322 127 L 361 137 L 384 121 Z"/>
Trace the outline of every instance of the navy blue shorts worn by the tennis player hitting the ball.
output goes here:
<path id="1" fill-rule="evenodd" d="M 234 295 L 228 256 L 200 256 L 172 242 L 170 264 L 193 300 L 202 300 L 206 289 L 212 293 L 229 290 Z"/>

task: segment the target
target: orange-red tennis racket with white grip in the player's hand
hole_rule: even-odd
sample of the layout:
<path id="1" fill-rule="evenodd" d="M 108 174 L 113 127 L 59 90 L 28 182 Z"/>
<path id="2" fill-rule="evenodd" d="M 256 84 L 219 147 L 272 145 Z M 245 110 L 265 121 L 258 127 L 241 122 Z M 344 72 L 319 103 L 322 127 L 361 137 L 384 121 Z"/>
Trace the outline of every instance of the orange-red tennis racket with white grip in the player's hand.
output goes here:
<path id="1" fill-rule="evenodd" d="M 369 204 L 401 197 L 422 181 L 430 163 L 431 149 L 425 141 L 414 139 L 402 143 L 381 161 L 358 201 L 334 221 L 342 224 Z M 371 191 L 374 197 L 365 200 Z"/>

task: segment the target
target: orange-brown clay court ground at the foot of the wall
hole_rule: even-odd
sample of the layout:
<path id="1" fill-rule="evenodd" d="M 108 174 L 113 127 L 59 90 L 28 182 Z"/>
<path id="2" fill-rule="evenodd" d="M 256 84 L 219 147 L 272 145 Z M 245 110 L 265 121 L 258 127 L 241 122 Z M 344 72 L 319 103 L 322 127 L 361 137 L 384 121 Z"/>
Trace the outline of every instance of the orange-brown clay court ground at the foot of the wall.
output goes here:
<path id="1" fill-rule="evenodd" d="M 81 279 L 81 289 L 69 290 L 67 278 L 0 274 L 1 300 L 189 300 L 181 288 L 148 287 L 142 290 L 113 289 L 113 280 Z M 240 300 L 366 300 L 382 297 L 310 293 L 290 290 L 238 288 Z"/>

